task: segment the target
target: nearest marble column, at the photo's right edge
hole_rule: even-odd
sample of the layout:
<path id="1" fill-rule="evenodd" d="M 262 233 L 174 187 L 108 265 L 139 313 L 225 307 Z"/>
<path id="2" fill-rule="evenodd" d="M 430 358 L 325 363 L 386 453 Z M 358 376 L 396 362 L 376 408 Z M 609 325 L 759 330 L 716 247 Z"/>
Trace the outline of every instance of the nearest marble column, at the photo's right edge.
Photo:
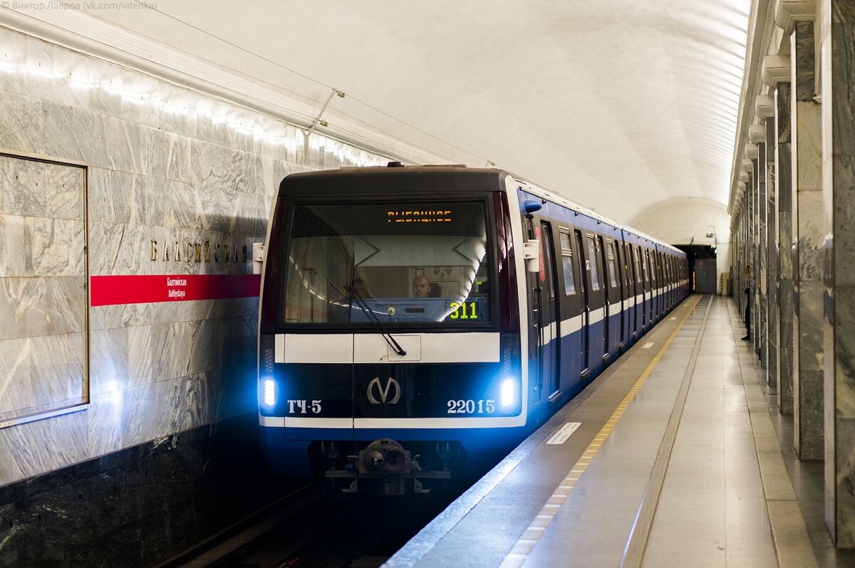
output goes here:
<path id="1" fill-rule="evenodd" d="M 855 3 L 820 4 L 825 266 L 825 520 L 855 548 Z"/>

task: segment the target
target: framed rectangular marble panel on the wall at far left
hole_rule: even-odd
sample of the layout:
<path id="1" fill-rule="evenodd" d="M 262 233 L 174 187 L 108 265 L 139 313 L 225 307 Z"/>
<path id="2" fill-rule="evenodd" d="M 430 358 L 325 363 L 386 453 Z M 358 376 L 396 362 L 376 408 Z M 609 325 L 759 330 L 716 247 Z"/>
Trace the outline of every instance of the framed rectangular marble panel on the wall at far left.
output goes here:
<path id="1" fill-rule="evenodd" d="M 84 202 L 84 167 L 0 155 L 0 425 L 87 400 Z"/>

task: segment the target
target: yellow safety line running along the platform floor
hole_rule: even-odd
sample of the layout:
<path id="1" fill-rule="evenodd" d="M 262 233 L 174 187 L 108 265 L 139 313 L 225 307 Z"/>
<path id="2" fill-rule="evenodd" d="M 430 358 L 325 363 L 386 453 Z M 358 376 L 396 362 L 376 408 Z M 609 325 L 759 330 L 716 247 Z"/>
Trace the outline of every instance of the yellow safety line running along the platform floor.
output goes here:
<path id="1" fill-rule="evenodd" d="M 579 461 L 576 462 L 575 466 L 567 473 L 567 476 L 564 477 L 563 481 L 560 485 L 558 485 L 555 492 L 546 501 L 543 508 L 540 509 L 540 512 L 528 525 L 528 529 L 526 529 L 520 539 L 516 541 L 516 545 L 514 548 L 510 549 L 510 553 L 504 557 L 500 568 L 516 568 L 517 566 L 521 566 L 523 562 L 525 562 L 526 557 L 528 557 L 528 553 L 531 553 L 534 545 L 540 540 L 540 536 L 546 530 L 546 527 L 552 522 L 552 519 L 555 518 L 556 513 L 558 512 L 558 508 L 564 504 L 564 501 L 567 501 L 570 493 L 576 486 L 576 483 L 579 481 L 579 478 L 582 476 L 582 473 L 587 470 L 587 466 L 591 464 L 594 456 L 597 455 L 599 448 L 602 447 L 605 439 L 609 437 L 611 434 L 611 430 L 615 429 L 618 420 L 621 419 L 623 413 L 626 411 L 627 407 L 629 407 L 629 403 L 633 401 L 635 395 L 637 395 L 642 386 L 644 386 L 648 377 L 651 376 L 653 369 L 659 364 L 659 360 L 662 359 L 665 351 L 668 350 L 669 345 L 674 338 L 677 336 L 677 333 L 681 330 L 683 324 L 686 323 L 686 320 L 689 319 L 689 316 L 692 315 L 694 308 L 698 306 L 698 302 L 700 302 L 701 296 L 695 296 L 694 303 L 688 308 L 686 316 L 681 320 L 679 324 L 677 324 L 674 333 L 665 341 L 662 348 L 659 349 L 659 352 L 653 357 L 653 360 L 650 362 L 650 365 L 641 373 L 639 379 L 635 381 L 632 389 L 629 389 L 629 392 L 626 396 L 623 397 L 623 401 L 619 405 L 614 413 L 611 414 L 610 418 L 605 421 L 605 425 L 602 430 L 599 430 L 597 436 L 593 437 L 593 441 L 588 444 L 587 449 L 582 453 Z"/>

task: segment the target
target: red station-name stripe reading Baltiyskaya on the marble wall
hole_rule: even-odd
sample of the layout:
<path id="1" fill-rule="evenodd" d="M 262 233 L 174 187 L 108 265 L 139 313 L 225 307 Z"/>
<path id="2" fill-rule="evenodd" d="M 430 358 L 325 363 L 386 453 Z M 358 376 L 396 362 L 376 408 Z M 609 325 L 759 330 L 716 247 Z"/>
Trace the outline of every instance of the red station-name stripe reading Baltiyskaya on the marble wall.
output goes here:
<path id="1" fill-rule="evenodd" d="M 222 300 L 258 296 L 259 274 L 93 276 L 92 306 Z"/>

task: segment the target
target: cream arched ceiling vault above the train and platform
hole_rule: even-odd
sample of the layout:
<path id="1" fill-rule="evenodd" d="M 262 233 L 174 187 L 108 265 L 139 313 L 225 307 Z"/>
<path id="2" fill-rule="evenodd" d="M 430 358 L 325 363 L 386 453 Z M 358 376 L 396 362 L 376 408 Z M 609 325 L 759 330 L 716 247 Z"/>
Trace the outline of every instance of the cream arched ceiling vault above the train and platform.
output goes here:
<path id="1" fill-rule="evenodd" d="M 495 162 L 666 238 L 711 225 L 701 218 L 709 208 L 669 217 L 660 210 L 669 203 L 726 207 L 749 9 L 749 0 L 158 0 L 89 13 L 314 108 L 335 87 L 347 97 L 333 98 L 331 121 L 344 115 L 448 161 Z M 677 226 L 660 231 L 663 219 Z"/>

